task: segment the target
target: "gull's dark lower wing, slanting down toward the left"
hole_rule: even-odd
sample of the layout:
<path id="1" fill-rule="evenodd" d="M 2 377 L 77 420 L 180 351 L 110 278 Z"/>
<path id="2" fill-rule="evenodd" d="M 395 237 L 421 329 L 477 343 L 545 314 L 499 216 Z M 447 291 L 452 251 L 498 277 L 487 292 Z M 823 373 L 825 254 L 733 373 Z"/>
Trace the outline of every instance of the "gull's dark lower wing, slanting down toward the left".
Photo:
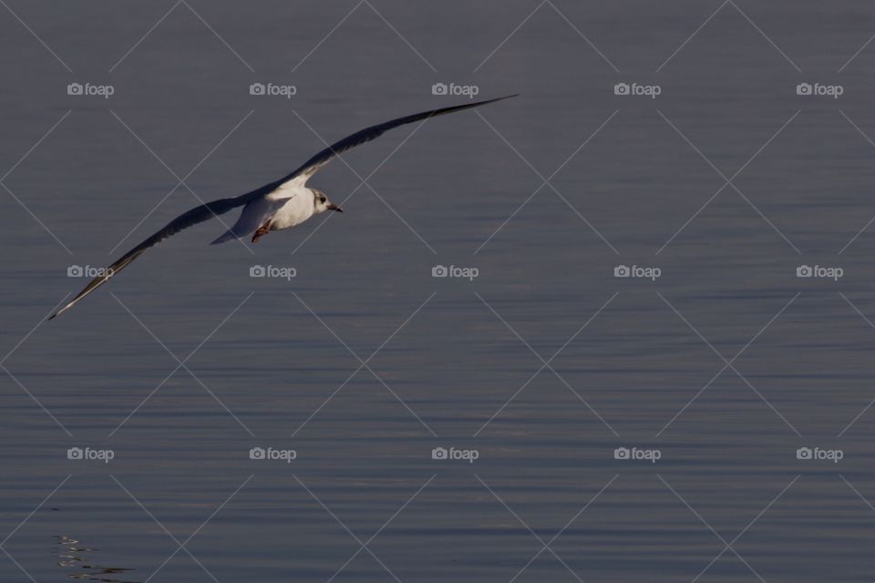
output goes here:
<path id="1" fill-rule="evenodd" d="M 204 220 L 210 220 L 213 217 L 218 217 L 221 214 L 228 212 L 229 210 L 235 209 L 237 207 L 242 207 L 250 200 L 255 199 L 259 196 L 263 196 L 266 192 L 273 190 L 276 184 L 269 184 L 261 189 L 252 190 L 252 192 L 248 192 L 242 196 L 233 198 L 233 199 L 219 199 L 213 200 L 211 202 L 207 202 L 206 204 L 202 204 L 199 207 L 195 207 L 187 212 L 182 213 L 179 217 L 174 220 L 171 220 L 167 225 L 164 226 L 163 229 L 159 230 L 157 233 L 149 237 L 149 239 L 141 242 L 137 247 L 134 247 L 132 250 L 125 253 L 122 257 L 118 259 L 118 261 L 114 262 L 110 265 L 106 270 L 103 271 L 98 277 L 91 280 L 85 289 L 81 292 L 78 292 L 76 297 L 73 298 L 66 306 L 55 312 L 49 317 L 49 320 L 56 318 L 63 312 L 67 312 L 70 308 L 76 304 L 79 300 L 87 296 L 89 293 L 94 292 L 101 285 L 109 281 L 113 275 L 116 275 L 118 271 L 121 271 L 128 267 L 131 261 L 137 259 L 143 251 L 148 250 L 155 245 L 158 245 L 162 240 L 167 239 L 168 237 L 175 235 L 180 232 L 180 230 L 188 229 L 198 223 L 203 222 Z"/>

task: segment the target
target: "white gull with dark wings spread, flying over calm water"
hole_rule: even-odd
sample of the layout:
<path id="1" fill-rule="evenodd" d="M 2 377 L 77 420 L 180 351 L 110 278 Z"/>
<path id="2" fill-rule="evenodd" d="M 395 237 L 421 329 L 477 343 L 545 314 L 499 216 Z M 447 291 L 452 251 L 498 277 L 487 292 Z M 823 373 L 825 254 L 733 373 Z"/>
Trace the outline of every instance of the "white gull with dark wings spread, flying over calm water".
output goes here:
<path id="1" fill-rule="evenodd" d="M 258 242 L 264 235 L 272 230 L 283 230 L 299 225 L 304 220 L 324 212 L 325 210 L 336 210 L 343 212 L 340 207 L 335 205 L 325 196 L 325 193 L 319 189 L 311 189 L 306 186 L 309 180 L 319 169 L 325 164 L 335 159 L 339 154 L 348 149 L 360 146 L 372 139 L 379 138 L 386 131 L 411 124 L 423 119 L 434 118 L 444 114 L 470 109 L 471 107 L 483 106 L 488 103 L 495 103 L 502 99 L 517 97 L 510 95 L 505 97 L 497 97 L 486 101 L 478 101 L 468 103 L 462 106 L 442 107 L 440 109 L 432 109 L 423 111 L 412 116 L 404 118 L 392 119 L 370 128 L 365 128 L 355 132 L 351 136 L 335 142 L 328 148 L 324 148 L 313 158 L 304 162 L 301 168 L 294 170 L 291 174 L 276 180 L 269 184 L 265 184 L 259 189 L 254 189 L 252 192 L 247 192 L 233 199 L 218 199 L 202 204 L 187 212 L 182 213 L 179 217 L 171 220 L 163 229 L 156 232 L 149 239 L 141 242 L 137 247 L 125 253 L 118 261 L 110 265 L 106 270 L 102 271 L 98 277 L 91 280 L 85 289 L 78 292 L 66 306 L 52 314 L 49 320 L 56 318 L 63 312 L 67 312 L 79 300 L 94 292 L 101 285 L 109 281 L 109 278 L 116 275 L 128 267 L 131 261 L 134 261 L 139 255 L 151 247 L 159 244 L 162 240 L 167 239 L 171 235 L 175 235 L 180 230 L 188 229 L 204 220 L 218 217 L 229 210 L 243 207 L 240 213 L 240 219 L 234 223 L 234 226 L 225 231 L 218 239 L 212 241 L 212 245 L 223 243 L 226 240 L 241 239 L 252 235 L 252 242 Z"/>

